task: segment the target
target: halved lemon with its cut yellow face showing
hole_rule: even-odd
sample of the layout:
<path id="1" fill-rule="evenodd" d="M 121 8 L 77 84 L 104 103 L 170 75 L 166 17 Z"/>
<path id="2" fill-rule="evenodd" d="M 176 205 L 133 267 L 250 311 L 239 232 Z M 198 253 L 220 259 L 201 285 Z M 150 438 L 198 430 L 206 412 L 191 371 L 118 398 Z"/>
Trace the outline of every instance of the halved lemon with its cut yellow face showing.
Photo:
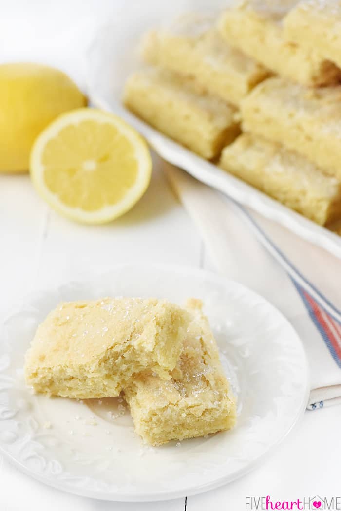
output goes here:
<path id="1" fill-rule="evenodd" d="M 86 224 L 110 222 L 130 210 L 146 191 L 151 168 L 139 133 L 95 108 L 60 115 L 38 136 L 30 157 L 41 197 Z"/>

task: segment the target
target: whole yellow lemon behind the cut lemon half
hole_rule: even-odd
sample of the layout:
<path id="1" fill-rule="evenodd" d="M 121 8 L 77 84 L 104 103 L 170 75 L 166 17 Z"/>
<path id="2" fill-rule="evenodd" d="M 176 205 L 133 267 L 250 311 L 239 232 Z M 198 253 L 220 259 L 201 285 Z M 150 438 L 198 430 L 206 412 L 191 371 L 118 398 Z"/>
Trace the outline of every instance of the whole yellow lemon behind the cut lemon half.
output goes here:
<path id="1" fill-rule="evenodd" d="M 32 63 L 0 65 L 0 172 L 29 169 L 31 147 L 60 113 L 86 105 L 58 69 Z"/>

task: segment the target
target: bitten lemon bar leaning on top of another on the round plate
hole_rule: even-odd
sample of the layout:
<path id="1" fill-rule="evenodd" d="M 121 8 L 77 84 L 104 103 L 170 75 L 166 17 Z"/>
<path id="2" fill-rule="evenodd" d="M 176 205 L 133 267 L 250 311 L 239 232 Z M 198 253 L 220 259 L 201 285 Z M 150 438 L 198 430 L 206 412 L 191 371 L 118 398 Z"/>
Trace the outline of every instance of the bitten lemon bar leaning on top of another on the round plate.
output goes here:
<path id="1" fill-rule="evenodd" d="M 37 329 L 26 355 L 27 384 L 37 392 L 89 399 L 118 396 L 142 370 L 169 378 L 187 314 L 152 298 L 63 303 Z"/>

